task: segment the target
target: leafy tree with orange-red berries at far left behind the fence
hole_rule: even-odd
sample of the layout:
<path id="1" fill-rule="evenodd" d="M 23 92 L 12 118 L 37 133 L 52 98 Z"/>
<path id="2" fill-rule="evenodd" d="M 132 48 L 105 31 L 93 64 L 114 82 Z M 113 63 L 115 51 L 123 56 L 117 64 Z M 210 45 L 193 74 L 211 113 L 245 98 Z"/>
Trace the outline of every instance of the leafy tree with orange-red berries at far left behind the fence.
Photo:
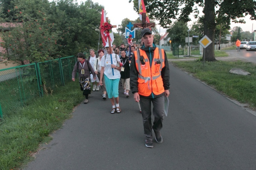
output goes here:
<path id="1" fill-rule="evenodd" d="M 6 25 L 9 26 L 9 31 L 2 31 L 1 45 L 9 49 L 9 53 L 13 54 L 13 58 L 10 58 L 9 53 L 3 53 L 6 58 L 21 62 L 42 62 L 48 59 L 56 57 L 58 35 L 52 32 L 54 24 L 47 23 L 47 16 L 44 11 L 39 11 L 40 6 L 49 6 L 47 1 L 40 1 L 31 3 L 35 12 L 31 15 L 30 10 L 26 8 L 26 0 L 14 1 L 15 6 L 9 9 L 13 15 L 4 18 L 9 22 Z M 41 8 L 42 9 L 42 8 Z M 2 13 L 3 15 L 3 13 Z M 15 20 L 14 20 L 15 18 Z"/>

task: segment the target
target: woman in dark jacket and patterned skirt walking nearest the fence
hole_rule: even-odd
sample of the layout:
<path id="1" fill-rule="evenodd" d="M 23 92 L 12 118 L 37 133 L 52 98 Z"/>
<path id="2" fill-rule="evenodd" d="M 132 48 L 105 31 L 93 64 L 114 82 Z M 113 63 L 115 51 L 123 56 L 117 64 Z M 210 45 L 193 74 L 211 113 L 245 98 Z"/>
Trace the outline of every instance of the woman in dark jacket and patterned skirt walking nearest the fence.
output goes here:
<path id="1" fill-rule="evenodd" d="M 76 73 L 79 73 L 79 83 L 81 91 L 83 91 L 83 95 L 85 95 L 84 104 L 88 103 L 88 95 L 91 94 L 91 83 L 90 83 L 90 72 L 93 74 L 94 80 L 96 79 L 96 75 L 93 70 L 93 66 L 91 66 L 90 62 L 85 59 L 83 53 L 77 54 L 77 62 L 74 65 L 74 69 L 72 72 L 72 81 L 75 81 Z"/>

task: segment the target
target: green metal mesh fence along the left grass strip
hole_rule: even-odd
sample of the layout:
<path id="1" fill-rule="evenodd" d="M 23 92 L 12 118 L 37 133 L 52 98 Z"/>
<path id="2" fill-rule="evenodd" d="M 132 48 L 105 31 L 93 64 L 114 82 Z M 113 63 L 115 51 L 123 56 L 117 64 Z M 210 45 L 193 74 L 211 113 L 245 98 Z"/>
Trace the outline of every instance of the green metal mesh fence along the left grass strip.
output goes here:
<path id="1" fill-rule="evenodd" d="M 0 117 L 71 81 L 75 56 L 0 70 Z"/>

